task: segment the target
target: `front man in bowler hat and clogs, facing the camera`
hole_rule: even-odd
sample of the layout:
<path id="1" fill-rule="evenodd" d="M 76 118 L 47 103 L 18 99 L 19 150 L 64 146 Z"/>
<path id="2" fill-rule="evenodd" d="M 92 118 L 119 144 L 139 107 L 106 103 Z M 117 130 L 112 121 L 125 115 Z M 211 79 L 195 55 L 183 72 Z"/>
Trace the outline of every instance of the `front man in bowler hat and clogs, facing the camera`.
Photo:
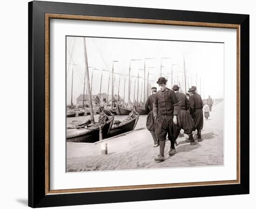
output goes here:
<path id="1" fill-rule="evenodd" d="M 167 80 L 161 77 L 156 82 L 160 91 L 155 94 L 155 100 L 153 103 L 153 115 L 155 118 L 155 133 L 159 139 L 160 154 L 155 157 L 156 161 L 164 161 L 164 147 L 165 140 L 168 134 L 171 147 L 169 155 L 175 153 L 175 140 L 179 136 L 179 127 L 177 124 L 177 115 L 180 110 L 180 103 L 175 95 L 175 92 L 166 87 Z"/>

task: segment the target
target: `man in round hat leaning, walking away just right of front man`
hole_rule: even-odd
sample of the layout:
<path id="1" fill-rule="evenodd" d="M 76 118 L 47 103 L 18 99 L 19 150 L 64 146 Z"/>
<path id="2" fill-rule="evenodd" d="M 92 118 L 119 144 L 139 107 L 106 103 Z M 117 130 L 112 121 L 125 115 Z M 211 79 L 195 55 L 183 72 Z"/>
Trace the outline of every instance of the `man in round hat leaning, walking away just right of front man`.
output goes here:
<path id="1" fill-rule="evenodd" d="M 192 131 L 195 131 L 194 121 L 191 115 L 189 114 L 188 110 L 190 107 L 189 99 L 186 97 L 185 94 L 179 92 L 180 87 L 178 85 L 173 86 L 173 91 L 176 94 L 178 101 L 180 102 L 181 109 L 178 114 L 178 126 L 184 130 L 184 134 L 189 135 L 190 144 L 198 144 L 197 140 L 194 140 Z"/>

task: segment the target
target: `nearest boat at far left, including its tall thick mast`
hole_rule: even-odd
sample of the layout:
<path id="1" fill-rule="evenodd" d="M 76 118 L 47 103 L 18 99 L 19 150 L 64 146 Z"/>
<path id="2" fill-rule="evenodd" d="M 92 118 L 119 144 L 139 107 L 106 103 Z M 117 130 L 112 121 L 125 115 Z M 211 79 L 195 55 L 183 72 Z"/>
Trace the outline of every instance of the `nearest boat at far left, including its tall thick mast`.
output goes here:
<path id="1" fill-rule="evenodd" d="M 89 83 L 88 59 L 86 51 L 86 38 L 84 37 L 84 56 L 85 56 L 85 79 L 87 79 L 87 90 L 89 92 L 90 124 L 83 123 L 75 127 L 67 128 L 67 142 L 88 142 L 94 143 L 108 137 L 108 133 L 114 121 L 114 115 L 109 117 L 105 123 L 94 123 L 92 95 Z M 84 88 L 85 90 L 85 88 Z"/>

